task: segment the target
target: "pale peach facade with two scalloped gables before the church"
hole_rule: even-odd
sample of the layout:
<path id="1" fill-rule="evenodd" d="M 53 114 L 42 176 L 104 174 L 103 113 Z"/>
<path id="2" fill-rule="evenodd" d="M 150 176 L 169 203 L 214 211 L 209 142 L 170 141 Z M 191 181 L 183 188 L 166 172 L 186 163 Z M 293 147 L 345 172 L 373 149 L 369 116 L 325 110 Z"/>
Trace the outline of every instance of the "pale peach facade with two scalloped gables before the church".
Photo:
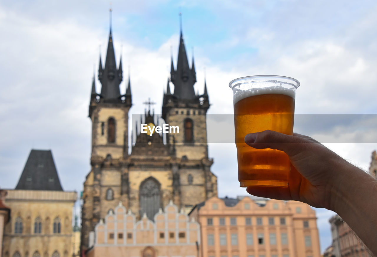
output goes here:
<path id="1" fill-rule="evenodd" d="M 102 256 L 182 256 L 195 257 L 200 242 L 199 224 L 178 211 L 172 201 L 159 209 L 153 221 L 141 220 L 122 205 L 100 220 L 89 245 L 88 257 Z M 149 254 L 149 255 L 148 255 Z"/>

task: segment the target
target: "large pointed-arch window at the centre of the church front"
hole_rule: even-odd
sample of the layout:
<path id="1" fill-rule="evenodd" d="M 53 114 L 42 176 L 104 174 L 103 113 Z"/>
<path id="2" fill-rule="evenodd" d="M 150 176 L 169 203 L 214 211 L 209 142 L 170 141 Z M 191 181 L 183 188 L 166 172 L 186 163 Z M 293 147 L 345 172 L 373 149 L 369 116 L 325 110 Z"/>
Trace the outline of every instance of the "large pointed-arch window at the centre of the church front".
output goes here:
<path id="1" fill-rule="evenodd" d="M 153 220 L 154 215 L 161 208 L 161 190 L 158 181 L 149 177 L 140 184 L 140 215 L 147 214 Z"/>

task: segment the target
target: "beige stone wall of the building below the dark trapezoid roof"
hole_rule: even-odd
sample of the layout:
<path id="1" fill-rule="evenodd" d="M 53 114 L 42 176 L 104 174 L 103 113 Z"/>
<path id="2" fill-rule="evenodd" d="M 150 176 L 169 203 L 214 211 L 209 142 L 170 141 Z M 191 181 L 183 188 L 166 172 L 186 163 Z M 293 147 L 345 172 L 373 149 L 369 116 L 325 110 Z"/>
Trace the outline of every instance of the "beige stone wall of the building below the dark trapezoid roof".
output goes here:
<path id="1" fill-rule="evenodd" d="M 11 208 L 11 221 L 6 225 L 3 239 L 3 256 L 12 256 L 16 251 L 21 256 L 32 256 L 35 251 L 41 256 L 51 256 L 58 251 L 60 256 L 72 256 L 72 210 L 77 199 L 76 192 L 9 190 L 5 203 Z M 22 234 L 15 234 L 15 220 L 23 222 Z M 40 217 L 41 234 L 34 233 L 34 220 Z M 53 233 L 53 223 L 60 218 L 61 233 Z"/>

